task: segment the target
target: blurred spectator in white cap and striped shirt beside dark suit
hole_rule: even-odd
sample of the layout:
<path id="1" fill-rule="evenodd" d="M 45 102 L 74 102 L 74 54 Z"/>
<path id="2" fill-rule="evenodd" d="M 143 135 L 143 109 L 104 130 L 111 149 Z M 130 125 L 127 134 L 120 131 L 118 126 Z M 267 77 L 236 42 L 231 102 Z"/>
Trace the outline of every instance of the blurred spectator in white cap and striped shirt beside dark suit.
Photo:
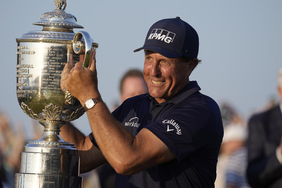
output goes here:
<path id="1" fill-rule="evenodd" d="M 231 105 L 221 105 L 224 136 L 216 168 L 216 188 L 248 188 L 246 124 Z"/>

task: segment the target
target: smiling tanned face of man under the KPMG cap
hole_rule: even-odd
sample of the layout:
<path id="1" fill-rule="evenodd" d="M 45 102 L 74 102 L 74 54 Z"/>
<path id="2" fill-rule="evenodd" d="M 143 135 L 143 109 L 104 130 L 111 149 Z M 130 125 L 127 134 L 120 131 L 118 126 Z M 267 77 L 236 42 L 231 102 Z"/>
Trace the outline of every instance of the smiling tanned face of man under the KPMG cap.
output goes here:
<path id="1" fill-rule="evenodd" d="M 158 103 L 169 100 L 189 83 L 193 63 L 180 58 L 167 58 L 159 53 L 145 50 L 143 75 L 149 93 Z"/>

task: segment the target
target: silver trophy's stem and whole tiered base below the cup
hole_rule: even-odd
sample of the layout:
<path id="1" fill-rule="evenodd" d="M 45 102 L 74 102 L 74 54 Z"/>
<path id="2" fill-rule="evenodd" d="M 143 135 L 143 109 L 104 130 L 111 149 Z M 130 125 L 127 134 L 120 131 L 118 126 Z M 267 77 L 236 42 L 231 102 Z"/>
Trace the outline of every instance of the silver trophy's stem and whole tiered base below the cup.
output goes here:
<path id="1" fill-rule="evenodd" d="M 14 188 L 82 188 L 80 156 L 74 144 L 59 135 L 62 122 L 40 123 L 47 128 L 41 139 L 28 142 L 21 152 Z"/>

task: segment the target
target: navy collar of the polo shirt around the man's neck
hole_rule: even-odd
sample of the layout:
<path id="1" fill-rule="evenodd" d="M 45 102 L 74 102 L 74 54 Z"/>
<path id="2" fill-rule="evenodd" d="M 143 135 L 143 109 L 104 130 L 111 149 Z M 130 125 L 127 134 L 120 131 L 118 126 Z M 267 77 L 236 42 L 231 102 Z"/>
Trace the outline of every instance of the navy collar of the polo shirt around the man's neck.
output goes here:
<path id="1" fill-rule="evenodd" d="M 177 104 L 180 101 L 182 101 L 184 98 L 189 97 L 190 95 L 192 95 L 193 93 L 196 93 L 197 91 L 201 90 L 201 88 L 199 87 L 197 81 L 190 81 L 179 93 L 177 93 L 173 98 L 163 102 L 164 104 L 167 103 L 174 103 Z M 155 103 L 157 104 L 157 101 L 155 98 L 153 98 L 149 93 L 148 93 L 148 97 Z M 160 103 L 160 104 L 163 104 Z"/>

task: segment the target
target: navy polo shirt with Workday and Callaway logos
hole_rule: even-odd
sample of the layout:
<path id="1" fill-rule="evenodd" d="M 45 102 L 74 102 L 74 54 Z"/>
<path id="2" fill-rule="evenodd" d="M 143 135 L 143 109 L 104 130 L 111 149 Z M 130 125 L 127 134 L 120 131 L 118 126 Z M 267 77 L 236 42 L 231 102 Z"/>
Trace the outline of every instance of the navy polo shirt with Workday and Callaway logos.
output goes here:
<path id="1" fill-rule="evenodd" d="M 176 156 L 137 174 L 116 174 L 115 187 L 214 187 L 223 125 L 216 102 L 199 90 L 191 81 L 160 104 L 148 93 L 138 95 L 112 113 L 133 135 L 142 128 L 150 130 Z M 93 134 L 89 136 L 97 146 Z"/>

